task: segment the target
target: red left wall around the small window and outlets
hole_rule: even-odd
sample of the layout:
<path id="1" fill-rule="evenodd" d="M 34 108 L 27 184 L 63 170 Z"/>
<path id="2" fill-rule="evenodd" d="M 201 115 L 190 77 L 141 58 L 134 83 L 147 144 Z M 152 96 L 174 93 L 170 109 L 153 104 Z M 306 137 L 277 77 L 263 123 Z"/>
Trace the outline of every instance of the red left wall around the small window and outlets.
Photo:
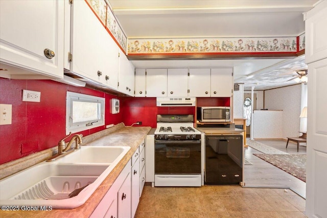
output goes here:
<path id="1" fill-rule="evenodd" d="M 41 92 L 40 102 L 22 101 L 22 90 Z M 12 104 L 12 124 L 0 125 L 0 164 L 53 147 L 64 138 L 66 91 L 105 98 L 105 124 L 123 122 L 122 113 L 110 114 L 110 99 L 118 98 L 114 95 L 52 80 L 0 78 L 0 103 Z M 81 134 L 86 136 L 104 128 L 92 128 Z"/>

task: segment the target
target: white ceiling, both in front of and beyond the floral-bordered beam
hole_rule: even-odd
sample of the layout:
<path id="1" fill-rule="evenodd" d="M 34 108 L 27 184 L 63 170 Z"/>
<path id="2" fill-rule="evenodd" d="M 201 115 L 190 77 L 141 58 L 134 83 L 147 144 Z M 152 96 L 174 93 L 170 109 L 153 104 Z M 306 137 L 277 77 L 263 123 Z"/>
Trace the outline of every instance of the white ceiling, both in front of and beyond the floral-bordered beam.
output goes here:
<path id="1" fill-rule="evenodd" d="M 319 0 L 109 0 L 128 38 L 298 36 L 305 31 L 303 12 Z M 136 68 L 233 67 L 245 89 L 267 90 L 296 84 L 295 59 L 133 60 Z M 310 72 L 309 72 L 310 73 Z M 288 76 L 290 75 L 290 76 Z M 288 77 L 286 77 L 288 76 Z M 284 77 L 284 78 L 281 78 Z"/>

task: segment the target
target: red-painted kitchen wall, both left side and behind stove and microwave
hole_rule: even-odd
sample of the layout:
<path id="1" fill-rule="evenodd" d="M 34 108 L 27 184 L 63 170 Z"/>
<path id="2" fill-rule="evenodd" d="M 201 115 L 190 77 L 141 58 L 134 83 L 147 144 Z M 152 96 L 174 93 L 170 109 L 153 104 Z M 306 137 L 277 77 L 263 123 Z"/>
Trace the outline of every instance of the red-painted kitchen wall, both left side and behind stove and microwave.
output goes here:
<path id="1" fill-rule="evenodd" d="M 40 102 L 22 101 L 22 90 L 41 92 Z M 106 99 L 105 124 L 124 122 L 156 127 L 157 114 L 195 115 L 195 107 L 157 107 L 156 98 L 117 97 L 100 91 L 66 85 L 52 80 L 12 80 L 0 78 L 0 103 L 12 104 L 12 124 L 0 125 L 0 164 L 25 157 L 58 144 L 65 137 L 66 92 Z M 110 114 L 110 100 L 121 100 L 121 113 Z M 229 106 L 229 98 L 197 98 L 198 106 Z M 80 132 L 83 136 L 105 126 Z M 68 138 L 69 139 L 69 138 Z"/>

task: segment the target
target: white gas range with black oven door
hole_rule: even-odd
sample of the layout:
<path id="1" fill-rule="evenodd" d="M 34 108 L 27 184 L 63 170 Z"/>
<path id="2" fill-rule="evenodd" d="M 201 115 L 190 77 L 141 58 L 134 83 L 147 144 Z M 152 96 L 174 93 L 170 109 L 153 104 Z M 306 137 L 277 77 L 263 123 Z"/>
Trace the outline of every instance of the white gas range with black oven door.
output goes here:
<path id="1" fill-rule="evenodd" d="M 203 185 L 204 135 L 193 125 L 193 115 L 157 115 L 155 186 Z"/>

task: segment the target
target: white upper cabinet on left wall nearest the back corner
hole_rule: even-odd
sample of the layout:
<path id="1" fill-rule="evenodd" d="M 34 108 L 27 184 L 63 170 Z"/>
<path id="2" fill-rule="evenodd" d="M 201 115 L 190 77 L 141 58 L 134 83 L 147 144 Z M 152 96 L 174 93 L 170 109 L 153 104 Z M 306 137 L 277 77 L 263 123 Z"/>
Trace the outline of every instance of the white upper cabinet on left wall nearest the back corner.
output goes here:
<path id="1" fill-rule="evenodd" d="M 132 62 L 127 59 L 125 54 L 121 53 L 119 57 L 118 91 L 129 96 L 134 96 L 134 70 Z"/>

